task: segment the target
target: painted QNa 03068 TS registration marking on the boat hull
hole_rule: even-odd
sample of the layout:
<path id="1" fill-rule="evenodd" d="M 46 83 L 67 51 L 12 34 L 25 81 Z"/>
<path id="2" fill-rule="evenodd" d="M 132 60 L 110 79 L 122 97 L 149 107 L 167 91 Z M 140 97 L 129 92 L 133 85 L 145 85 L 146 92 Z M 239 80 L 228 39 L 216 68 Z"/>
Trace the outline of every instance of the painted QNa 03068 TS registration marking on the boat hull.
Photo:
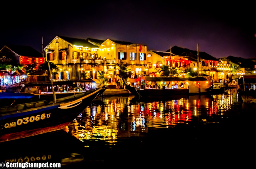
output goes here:
<path id="1" fill-rule="evenodd" d="M 10 123 L 6 123 L 4 125 L 5 128 L 11 128 L 11 127 L 16 127 L 16 125 L 20 126 L 22 124 L 28 124 L 28 122 L 33 123 L 34 121 L 39 121 L 40 119 L 43 120 L 45 118 L 49 118 L 51 117 L 51 113 L 49 114 L 38 114 L 36 116 L 31 116 L 31 117 L 24 117 L 23 119 L 19 118 L 17 120 L 17 122 L 10 122 Z"/>

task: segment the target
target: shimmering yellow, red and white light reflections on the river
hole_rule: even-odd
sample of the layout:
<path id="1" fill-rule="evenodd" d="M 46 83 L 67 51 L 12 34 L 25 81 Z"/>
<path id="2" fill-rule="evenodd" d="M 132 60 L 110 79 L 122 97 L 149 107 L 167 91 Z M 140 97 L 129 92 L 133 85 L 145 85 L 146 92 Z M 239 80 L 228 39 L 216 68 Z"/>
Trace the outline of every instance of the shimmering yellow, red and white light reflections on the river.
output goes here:
<path id="1" fill-rule="evenodd" d="M 240 104 L 235 90 L 174 100 L 109 97 L 94 100 L 65 130 L 81 141 L 115 145 L 120 138 L 145 136 L 149 130 L 219 123 Z"/>

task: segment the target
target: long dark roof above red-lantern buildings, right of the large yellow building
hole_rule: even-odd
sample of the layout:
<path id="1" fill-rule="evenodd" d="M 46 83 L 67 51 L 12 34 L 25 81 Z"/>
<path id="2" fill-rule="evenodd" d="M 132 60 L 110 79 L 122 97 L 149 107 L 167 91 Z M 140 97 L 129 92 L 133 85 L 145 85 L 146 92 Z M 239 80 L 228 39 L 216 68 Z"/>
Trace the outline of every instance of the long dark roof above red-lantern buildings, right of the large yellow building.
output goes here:
<path id="1" fill-rule="evenodd" d="M 167 50 L 166 52 L 170 52 L 170 49 Z M 189 56 L 194 59 L 197 59 L 197 51 L 192 51 L 186 48 L 178 47 L 178 46 L 173 46 L 172 47 L 172 53 L 175 55 L 179 56 Z M 219 59 L 205 53 L 205 52 L 199 52 L 199 59 L 204 59 L 204 60 L 212 60 L 212 61 L 218 61 Z"/>

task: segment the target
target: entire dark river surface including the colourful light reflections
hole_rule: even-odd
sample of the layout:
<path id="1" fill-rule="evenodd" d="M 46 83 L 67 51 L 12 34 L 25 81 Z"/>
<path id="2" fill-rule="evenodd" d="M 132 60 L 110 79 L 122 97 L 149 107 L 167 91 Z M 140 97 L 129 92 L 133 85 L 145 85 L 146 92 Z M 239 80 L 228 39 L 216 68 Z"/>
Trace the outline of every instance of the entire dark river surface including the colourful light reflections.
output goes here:
<path id="1" fill-rule="evenodd" d="M 0 162 L 78 167 L 249 167 L 255 107 L 235 89 L 176 99 L 99 97 L 61 131 L 1 143 Z"/>

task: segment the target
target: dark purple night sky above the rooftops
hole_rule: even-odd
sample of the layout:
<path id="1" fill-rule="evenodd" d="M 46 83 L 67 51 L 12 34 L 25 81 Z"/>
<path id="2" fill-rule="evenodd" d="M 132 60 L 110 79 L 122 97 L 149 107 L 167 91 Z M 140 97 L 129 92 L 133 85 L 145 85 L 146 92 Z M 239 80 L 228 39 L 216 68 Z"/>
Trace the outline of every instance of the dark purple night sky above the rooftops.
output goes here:
<path id="1" fill-rule="evenodd" d="M 57 35 L 107 38 L 145 44 L 148 50 L 172 46 L 216 58 L 256 58 L 253 4 L 174 5 L 168 1 L 84 1 L 42 5 L 13 4 L 1 10 L 0 45 L 29 45 L 39 52 Z M 8 11 L 8 12 L 6 12 Z"/>

